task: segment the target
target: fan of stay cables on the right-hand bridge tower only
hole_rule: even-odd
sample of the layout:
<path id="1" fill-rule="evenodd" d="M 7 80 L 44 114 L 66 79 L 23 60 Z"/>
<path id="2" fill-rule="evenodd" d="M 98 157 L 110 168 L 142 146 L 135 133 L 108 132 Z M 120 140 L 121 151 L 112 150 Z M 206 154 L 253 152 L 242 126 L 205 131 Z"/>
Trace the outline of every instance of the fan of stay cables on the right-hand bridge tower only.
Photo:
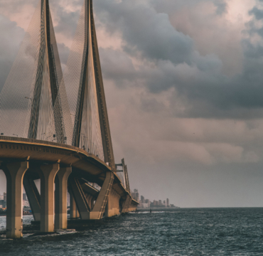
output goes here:
<path id="1" fill-rule="evenodd" d="M 73 118 L 73 146 L 104 161 L 97 102 L 90 22 L 90 1 L 85 1 L 64 72 L 65 88 Z"/>

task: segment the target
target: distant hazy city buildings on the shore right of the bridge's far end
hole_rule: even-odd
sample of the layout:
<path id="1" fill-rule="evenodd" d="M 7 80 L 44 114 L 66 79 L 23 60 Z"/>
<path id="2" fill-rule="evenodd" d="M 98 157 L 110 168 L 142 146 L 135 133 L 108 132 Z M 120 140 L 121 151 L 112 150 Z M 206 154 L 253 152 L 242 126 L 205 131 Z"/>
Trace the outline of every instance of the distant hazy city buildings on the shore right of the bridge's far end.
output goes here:
<path id="1" fill-rule="evenodd" d="M 149 201 L 149 199 L 145 199 L 144 196 L 141 196 L 141 198 L 139 198 L 138 189 L 134 189 L 134 192 L 132 192 L 132 197 L 140 203 L 138 208 L 178 208 L 178 206 L 170 204 L 169 198 L 166 198 L 166 200 L 163 201 L 154 200 L 153 202 Z"/>

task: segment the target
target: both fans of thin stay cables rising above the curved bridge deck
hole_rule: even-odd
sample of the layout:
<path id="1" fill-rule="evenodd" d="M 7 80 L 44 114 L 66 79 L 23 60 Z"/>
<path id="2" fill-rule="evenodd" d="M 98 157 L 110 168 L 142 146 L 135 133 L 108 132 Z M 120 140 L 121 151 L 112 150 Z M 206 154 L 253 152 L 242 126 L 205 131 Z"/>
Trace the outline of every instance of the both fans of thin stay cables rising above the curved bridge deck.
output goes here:
<path id="1" fill-rule="evenodd" d="M 0 133 L 78 146 L 104 161 L 90 0 L 63 75 L 48 0 L 40 0 L 0 95 Z"/>

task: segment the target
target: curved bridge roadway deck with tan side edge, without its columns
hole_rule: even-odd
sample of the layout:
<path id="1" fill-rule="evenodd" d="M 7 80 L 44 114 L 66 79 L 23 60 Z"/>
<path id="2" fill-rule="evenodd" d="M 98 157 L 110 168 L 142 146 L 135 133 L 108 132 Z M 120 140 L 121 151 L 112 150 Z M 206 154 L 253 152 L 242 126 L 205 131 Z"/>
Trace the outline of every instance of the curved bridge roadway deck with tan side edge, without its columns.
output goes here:
<path id="1" fill-rule="evenodd" d="M 100 186 L 104 181 L 104 174 L 107 171 L 112 171 L 97 156 L 75 146 L 38 139 L 0 136 L 0 162 L 21 160 L 33 163 L 60 163 L 60 166 L 72 166 L 73 173 L 82 172 L 82 174 L 87 174 L 87 176 L 94 178 L 94 181 Z M 129 193 L 115 173 L 114 189 L 122 196 Z"/>

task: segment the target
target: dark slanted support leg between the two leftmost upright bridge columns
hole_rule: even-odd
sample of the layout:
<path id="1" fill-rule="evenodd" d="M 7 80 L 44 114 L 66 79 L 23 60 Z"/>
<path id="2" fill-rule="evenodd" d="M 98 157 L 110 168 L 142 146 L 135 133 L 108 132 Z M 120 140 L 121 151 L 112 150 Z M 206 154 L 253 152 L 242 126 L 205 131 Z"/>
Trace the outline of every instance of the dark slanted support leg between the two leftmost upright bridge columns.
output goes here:
<path id="1" fill-rule="evenodd" d="M 25 188 L 34 220 L 41 221 L 41 196 L 38 188 L 36 188 L 36 183 L 27 174 L 23 178 L 23 187 Z"/>

